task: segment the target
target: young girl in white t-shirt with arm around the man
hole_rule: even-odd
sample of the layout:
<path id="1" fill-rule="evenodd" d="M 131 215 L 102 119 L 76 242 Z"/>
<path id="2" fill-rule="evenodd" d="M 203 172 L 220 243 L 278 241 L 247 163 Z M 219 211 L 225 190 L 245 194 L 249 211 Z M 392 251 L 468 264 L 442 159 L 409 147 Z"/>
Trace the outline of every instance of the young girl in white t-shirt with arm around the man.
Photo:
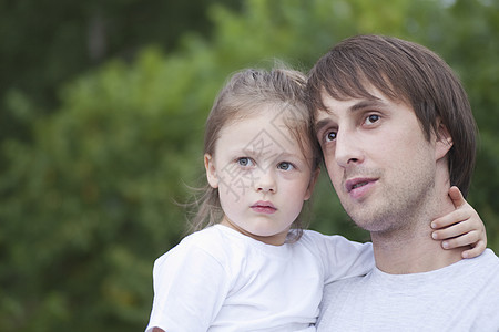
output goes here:
<path id="1" fill-rule="evenodd" d="M 298 225 L 320 162 L 305 80 L 244 70 L 221 91 L 206 122 L 203 229 L 156 260 L 146 331 L 315 331 L 323 286 L 374 267 L 370 243 Z M 466 219 L 467 245 L 478 243 L 481 220 L 459 204 L 437 224 Z"/>

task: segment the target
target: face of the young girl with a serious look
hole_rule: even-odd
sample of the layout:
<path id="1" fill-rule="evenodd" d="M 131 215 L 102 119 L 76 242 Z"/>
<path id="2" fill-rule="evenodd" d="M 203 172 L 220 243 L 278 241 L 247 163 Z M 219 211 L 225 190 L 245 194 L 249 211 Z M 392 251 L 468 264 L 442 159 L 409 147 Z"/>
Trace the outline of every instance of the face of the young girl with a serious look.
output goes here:
<path id="1" fill-rule="evenodd" d="M 318 169 L 287 129 L 284 112 L 264 107 L 221 129 L 206 176 L 218 188 L 222 225 L 268 245 L 283 245 L 310 198 Z"/>

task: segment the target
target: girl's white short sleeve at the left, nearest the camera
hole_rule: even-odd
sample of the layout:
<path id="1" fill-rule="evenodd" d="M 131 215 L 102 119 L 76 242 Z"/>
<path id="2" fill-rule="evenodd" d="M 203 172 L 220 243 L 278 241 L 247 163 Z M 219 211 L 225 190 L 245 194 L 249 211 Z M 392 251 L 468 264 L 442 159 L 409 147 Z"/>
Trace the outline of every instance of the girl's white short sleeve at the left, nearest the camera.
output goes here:
<path id="1" fill-rule="evenodd" d="M 146 331 L 206 331 L 228 292 L 220 260 L 200 247 L 182 243 L 156 260 L 153 283 Z"/>

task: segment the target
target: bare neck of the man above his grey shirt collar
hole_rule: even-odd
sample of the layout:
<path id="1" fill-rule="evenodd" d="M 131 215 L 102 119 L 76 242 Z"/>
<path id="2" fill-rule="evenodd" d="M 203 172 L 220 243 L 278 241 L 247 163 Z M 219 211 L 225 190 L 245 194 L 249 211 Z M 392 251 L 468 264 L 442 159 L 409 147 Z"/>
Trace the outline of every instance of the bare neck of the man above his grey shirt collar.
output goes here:
<path id="1" fill-rule="evenodd" d="M 438 211 L 419 215 L 419 220 L 413 220 L 411 229 L 371 232 L 378 269 L 391 274 L 419 273 L 441 269 L 461 260 L 461 253 L 466 249 L 444 249 L 441 241 L 431 238 L 430 222 L 455 209 L 449 198 L 444 198 L 436 206 Z"/>

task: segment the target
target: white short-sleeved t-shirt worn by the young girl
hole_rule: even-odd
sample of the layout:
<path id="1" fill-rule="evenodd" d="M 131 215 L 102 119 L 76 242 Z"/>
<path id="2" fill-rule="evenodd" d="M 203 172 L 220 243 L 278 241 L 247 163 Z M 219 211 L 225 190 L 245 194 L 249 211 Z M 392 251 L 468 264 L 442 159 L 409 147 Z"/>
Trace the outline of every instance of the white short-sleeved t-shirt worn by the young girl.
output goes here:
<path id="1" fill-rule="evenodd" d="M 315 331 L 324 284 L 373 267 L 370 243 L 305 230 L 271 246 L 216 225 L 155 261 L 146 331 Z"/>

